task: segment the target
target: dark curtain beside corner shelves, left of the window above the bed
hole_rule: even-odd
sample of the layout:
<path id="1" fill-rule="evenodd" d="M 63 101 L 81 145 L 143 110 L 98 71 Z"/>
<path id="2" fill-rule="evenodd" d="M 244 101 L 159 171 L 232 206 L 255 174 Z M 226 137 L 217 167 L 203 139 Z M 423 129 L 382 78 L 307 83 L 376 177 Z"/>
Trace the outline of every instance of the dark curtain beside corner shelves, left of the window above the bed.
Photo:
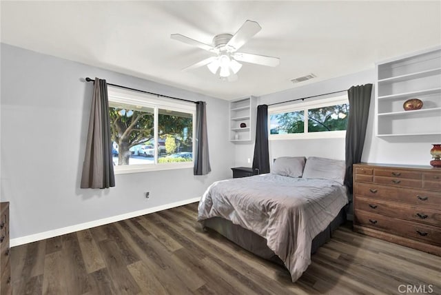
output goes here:
<path id="1" fill-rule="evenodd" d="M 257 107 L 253 171 L 258 174 L 269 173 L 268 105 L 258 105 Z"/>

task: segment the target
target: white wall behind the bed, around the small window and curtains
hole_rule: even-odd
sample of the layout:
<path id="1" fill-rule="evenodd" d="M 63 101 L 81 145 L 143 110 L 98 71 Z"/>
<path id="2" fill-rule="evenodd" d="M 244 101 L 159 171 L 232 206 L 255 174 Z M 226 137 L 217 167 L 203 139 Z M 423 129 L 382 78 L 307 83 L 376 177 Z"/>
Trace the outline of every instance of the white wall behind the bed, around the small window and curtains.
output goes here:
<path id="1" fill-rule="evenodd" d="M 260 96 L 258 104 L 277 103 L 335 92 L 349 89 L 353 85 L 374 84 L 375 79 L 375 69 L 372 65 L 371 70 Z M 318 99 L 325 97 L 329 96 L 320 96 Z M 362 161 L 368 163 L 429 165 L 431 160 L 431 155 L 429 154 L 429 150 L 432 147 L 431 143 L 435 143 L 432 142 L 434 140 L 439 141 L 439 136 L 404 136 L 399 139 L 378 138 L 374 135 L 373 129 L 374 106 L 375 92 L 373 91 Z M 253 153 L 254 143 L 236 145 L 236 166 L 249 166 L 247 158 L 252 159 Z M 269 141 L 269 159 L 274 159 L 278 156 L 324 156 L 332 159 L 345 159 L 345 139 Z"/>

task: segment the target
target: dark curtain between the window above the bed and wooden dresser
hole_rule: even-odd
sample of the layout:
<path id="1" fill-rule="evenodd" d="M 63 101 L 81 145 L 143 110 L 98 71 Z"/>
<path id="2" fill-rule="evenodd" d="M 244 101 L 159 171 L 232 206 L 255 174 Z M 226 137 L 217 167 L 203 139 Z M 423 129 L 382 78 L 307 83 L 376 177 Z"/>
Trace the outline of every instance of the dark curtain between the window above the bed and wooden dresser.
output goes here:
<path id="1" fill-rule="evenodd" d="M 352 86 L 349 97 L 349 118 L 346 128 L 346 174 L 345 185 L 352 194 L 352 164 L 361 161 L 371 103 L 372 84 Z"/>

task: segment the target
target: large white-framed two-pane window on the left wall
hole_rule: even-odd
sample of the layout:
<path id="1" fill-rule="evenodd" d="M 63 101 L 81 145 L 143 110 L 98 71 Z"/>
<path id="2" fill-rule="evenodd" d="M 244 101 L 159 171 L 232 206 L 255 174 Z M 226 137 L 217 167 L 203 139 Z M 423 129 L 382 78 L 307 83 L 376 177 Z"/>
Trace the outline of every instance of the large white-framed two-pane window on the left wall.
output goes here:
<path id="1" fill-rule="evenodd" d="M 194 103 L 108 88 L 116 174 L 193 167 Z"/>

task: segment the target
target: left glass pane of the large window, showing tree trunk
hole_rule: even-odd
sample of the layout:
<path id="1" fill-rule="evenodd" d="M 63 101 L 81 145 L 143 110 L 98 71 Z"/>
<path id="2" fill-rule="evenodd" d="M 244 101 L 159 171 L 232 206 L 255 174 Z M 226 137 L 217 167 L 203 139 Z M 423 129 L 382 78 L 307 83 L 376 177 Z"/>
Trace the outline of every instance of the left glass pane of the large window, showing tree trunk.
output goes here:
<path id="1" fill-rule="evenodd" d="M 154 109 L 109 102 L 114 165 L 154 164 Z"/>

